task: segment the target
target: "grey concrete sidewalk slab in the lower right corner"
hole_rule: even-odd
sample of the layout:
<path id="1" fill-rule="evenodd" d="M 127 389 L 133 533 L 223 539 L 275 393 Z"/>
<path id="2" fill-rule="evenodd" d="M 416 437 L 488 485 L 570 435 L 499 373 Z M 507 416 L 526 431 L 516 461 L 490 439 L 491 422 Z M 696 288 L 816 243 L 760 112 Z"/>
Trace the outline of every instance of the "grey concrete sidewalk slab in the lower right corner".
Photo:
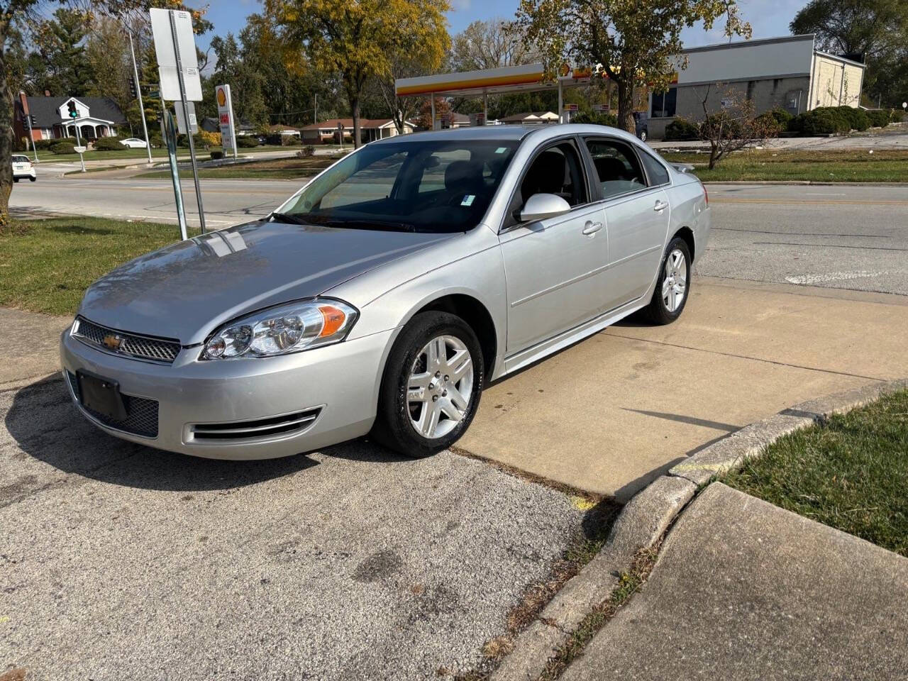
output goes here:
<path id="1" fill-rule="evenodd" d="M 721 483 L 561 677 L 903 679 L 908 559 Z"/>

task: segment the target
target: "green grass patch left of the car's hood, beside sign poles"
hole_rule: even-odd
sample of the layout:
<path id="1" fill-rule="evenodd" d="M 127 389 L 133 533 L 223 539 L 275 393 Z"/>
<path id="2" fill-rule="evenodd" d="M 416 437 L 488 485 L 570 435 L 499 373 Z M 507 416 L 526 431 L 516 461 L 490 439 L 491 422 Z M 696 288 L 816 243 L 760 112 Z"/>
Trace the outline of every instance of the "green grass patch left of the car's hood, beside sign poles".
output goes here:
<path id="1" fill-rule="evenodd" d="M 0 305 L 74 314 L 102 274 L 180 239 L 175 224 L 102 218 L 14 220 L 0 234 Z"/>

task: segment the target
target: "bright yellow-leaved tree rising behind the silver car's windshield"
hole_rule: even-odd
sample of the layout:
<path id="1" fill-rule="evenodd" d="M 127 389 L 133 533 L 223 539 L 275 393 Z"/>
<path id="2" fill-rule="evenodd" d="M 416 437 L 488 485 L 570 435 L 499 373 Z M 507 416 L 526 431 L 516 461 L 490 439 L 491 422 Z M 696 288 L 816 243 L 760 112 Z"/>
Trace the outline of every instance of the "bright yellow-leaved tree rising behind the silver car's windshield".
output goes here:
<path id="1" fill-rule="evenodd" d="M 341 76 L 360 145 L 360 99 L 369 78 L 389 77 L 402 54 L 437 54 L 449 45 L 448 0 L 265 0 L 280 26 L 291 67 Z"/>

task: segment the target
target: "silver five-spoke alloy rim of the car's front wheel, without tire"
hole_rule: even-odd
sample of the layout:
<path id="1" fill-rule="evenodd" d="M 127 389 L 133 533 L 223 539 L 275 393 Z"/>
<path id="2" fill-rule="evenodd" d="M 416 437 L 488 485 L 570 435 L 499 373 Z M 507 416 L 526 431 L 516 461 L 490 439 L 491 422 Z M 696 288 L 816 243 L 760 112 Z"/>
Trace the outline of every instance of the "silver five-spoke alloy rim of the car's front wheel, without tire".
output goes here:
<path id="1" fill-rule="evenodd" d="M 426 439 L 443 438 L 467 413 L 473 358 L 463 341 L 438 336 L 419 350 L 407 382 L 410 425 Z"/>

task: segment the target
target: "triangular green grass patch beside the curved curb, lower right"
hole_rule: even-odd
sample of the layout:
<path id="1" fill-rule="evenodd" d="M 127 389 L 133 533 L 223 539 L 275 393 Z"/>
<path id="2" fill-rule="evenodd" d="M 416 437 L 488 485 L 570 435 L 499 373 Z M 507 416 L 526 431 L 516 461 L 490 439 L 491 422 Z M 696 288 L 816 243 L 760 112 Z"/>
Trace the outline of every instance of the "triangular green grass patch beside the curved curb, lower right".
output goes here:
<path id="1" fill-rule="evenodd" d="M 908 557 L 908 390 L 786 435 L 723 482 Z"/>

